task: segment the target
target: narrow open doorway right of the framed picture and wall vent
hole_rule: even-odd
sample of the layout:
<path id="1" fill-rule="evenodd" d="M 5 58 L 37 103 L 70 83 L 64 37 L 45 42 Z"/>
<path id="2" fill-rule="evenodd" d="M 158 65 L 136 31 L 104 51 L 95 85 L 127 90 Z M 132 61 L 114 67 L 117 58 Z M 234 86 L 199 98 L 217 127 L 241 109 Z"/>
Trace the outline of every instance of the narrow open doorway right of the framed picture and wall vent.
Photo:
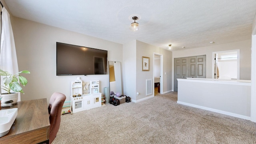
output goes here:
<path id="1" fill-rule="evenodd" d="M 154 95 L 163 93 L 163 55 L 154 53 Z"/>

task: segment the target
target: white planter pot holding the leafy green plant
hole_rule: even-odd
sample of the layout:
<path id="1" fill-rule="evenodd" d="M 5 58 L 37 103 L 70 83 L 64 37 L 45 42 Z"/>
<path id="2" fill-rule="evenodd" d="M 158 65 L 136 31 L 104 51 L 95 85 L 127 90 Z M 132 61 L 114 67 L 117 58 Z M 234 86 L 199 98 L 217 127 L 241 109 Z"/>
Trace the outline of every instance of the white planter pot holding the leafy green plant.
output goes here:
<path id="1" fill-rule="evenodd" d="M 2 97 L 1 106 L 11 106 L 12 104 L 16 104 L 18 101 L 18 92 L 2 93 L 0 95 Z"/>

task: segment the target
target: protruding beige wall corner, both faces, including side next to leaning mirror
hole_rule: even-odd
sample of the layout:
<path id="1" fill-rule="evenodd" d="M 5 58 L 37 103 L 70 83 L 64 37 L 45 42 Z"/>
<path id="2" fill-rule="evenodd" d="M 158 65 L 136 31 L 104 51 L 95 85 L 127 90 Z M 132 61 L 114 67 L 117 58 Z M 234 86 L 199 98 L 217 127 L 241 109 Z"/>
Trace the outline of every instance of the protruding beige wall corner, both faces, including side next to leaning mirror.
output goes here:
<path id="1" fill-rule="evenodd" d="M 169 92 L 172 90 L 172 52 L 138 40 L 123 45 L 124 94 L 135 102 L 154 95 L 152 88 L 152 94 L 146 96 L 146 79 L 152 79 L 152 82 L 154 80 L 154 53 L 164 57 L 163 67 L 166 75 L 163 76 L 163 92 Z M 150 58 L 150 71 L 142 71 L 142 56 Z M 138 96 L 137 92 L 140 93 Z"/>

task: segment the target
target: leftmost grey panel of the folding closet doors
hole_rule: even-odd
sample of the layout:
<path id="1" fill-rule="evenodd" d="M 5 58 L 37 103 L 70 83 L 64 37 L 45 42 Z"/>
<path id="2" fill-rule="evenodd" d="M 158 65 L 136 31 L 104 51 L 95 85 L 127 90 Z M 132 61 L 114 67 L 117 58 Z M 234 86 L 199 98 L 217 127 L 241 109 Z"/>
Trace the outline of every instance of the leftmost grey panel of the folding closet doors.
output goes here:
<path id="1" fill-rule="evenodd" d="M 181 78 L 181 58 L 174 58 L 174 91 L 178 91 L 178 80 Z"/>

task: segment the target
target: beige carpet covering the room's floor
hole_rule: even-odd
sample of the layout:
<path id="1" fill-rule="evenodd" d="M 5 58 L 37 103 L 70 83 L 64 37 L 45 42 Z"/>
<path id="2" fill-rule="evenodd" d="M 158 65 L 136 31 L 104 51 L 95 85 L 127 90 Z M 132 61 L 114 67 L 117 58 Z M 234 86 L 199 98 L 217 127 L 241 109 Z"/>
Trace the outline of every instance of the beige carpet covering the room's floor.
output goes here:
<path id="1" fill-rule="evenodd" d="M 53 144 L 256 144 L 256 123 L 176 102 L 170 92 L 64 114 Z"/>

